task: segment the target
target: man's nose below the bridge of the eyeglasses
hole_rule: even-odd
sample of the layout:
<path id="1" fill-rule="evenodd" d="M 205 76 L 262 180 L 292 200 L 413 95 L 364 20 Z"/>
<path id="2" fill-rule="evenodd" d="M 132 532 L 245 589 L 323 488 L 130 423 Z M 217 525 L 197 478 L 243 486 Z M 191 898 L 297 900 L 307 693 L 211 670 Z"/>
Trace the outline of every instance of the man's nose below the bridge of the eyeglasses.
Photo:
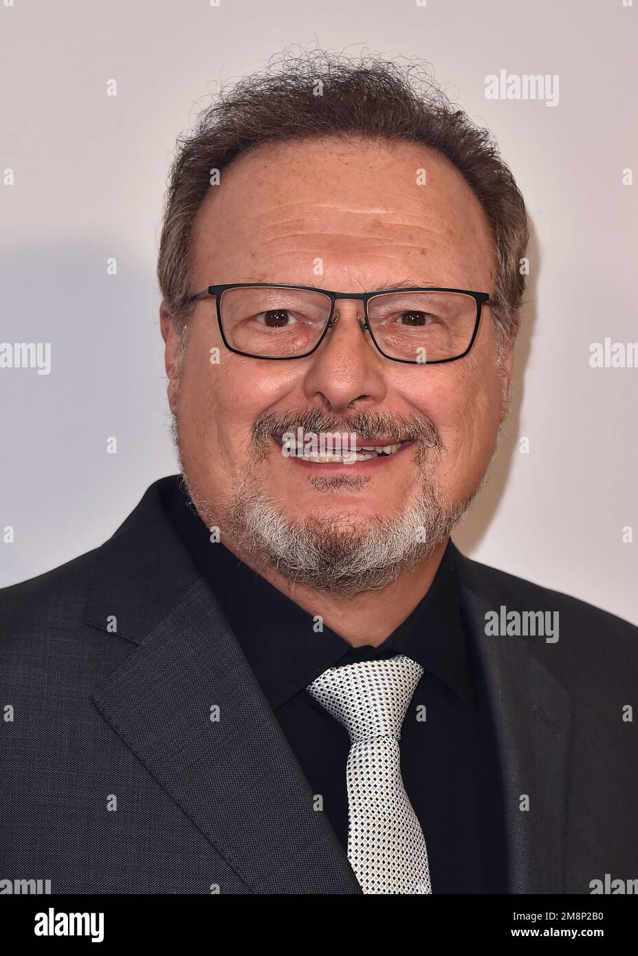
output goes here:
<path id="1" fill-rule="evenodd" d="M 383 357 L 365 331 L 363 302 L 337 299 L 331 327 L 309 357 L 304 390 L 332 410 L 366 407 L 387 394 Z"/>

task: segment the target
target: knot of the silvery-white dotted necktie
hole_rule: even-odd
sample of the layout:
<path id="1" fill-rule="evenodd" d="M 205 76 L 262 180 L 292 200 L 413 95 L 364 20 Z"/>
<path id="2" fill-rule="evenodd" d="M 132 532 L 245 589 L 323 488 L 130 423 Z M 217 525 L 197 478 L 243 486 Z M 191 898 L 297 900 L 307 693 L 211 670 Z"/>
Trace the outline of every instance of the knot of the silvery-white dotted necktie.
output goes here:
<path id="1" fill-rule="evenodd" d="M 351 742 L 392 736 L 397 740 L 423 668 L 404 654 L 329 667 L 308 693 L 348 730 Z"/>

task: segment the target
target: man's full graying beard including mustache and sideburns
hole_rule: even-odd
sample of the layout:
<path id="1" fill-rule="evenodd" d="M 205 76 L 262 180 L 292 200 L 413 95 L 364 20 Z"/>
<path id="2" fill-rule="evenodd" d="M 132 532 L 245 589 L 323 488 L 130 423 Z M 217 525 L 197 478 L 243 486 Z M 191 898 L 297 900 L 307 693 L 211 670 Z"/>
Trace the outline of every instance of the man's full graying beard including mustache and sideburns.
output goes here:
<path id="1" fill-rule="evenodd" d="M 500 353 L 501 359 L 501 353 Z M 504 377 L 501 360 L 498 361 L 503 384 L 501 413 L 504 418 L 509 405 L 509 382 Z M 180 365 L 174 375 L 179 386 Z M 179 396 L 179 387 L 178 387 Z M 178 401 L 179 404 L 179 401 Z M 436 428 L 431 423 L 417 422 L 410 417 L 398 431 L 415 441 L 416 465 L 420 484 L 415 496 L 392 517 L 374 515 L 362 521 L 348 511 L 330 516 L 314 515 L 303 521 L 287 514 L 280 501 L 266 496 L 255 476 L 243 477 L 234 494 L 222 505 L 214 505 L 188 479 L 183 464 L 178 430 L 178 418 L 171 416 L 171 435 L 181 470 L 182 489 L 190 496 L 202 521 L 208 528 L 219 528 L 221 540 L 231 551 L 247 559 L 256 570 L 272 569 L 292 583 L 306 585 L 316 591 L 352 597 L 367 591 L 377 591 L 393 583 L 398 577 L 427 560 L 436 546 L 445 541 L 483 488 L 491 471 L 500 437 L 502 421 L 488 466 L 477 488 L 461 502 L 449 501 L 436 479 L 434 467 L 443 446 Z M 355 429 L 374 422 L 376 434 L 392 432 L 395 417 L 384 414 L 352 416 L 345 422 L 323 412 L 294 413 L 287 418 L 262 416 L 253 433 L 255 461 L 263 461 L 267 454 L 268 435 L 274 433 L 273 421 L 281 425 L 278 433 L 294 431 L 298 422 L 306 430 L 339 431 L 345 424 Z M 385 425 L 385 427 L 384 427 Z M 321 492 L 363 489 L 365 479 L 351 476 L 319 476 L 311 479 L 312 486 Z"/>

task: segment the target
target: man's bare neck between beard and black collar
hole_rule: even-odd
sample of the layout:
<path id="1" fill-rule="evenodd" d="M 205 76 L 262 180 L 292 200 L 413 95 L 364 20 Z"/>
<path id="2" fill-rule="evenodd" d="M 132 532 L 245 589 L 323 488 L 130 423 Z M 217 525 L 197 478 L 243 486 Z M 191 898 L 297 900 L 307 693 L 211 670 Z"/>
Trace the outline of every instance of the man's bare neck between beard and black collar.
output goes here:
<path id="1" fill-rule="evenodd" d="M 319 591 L 295 584 L 272 568 L 256 566 L 249 556 L 234 547 L 226 547 L 278 591 L 308 611 L 308 614 L 321 617 L 330 630 L 344 641 L 348 641 L 353 647 L 363 644 L 376 647 L 390 637 L 428 593 L 448 540 L 449 538 L 446 538 L 436 545 L 430 557 L 385 588 L 348 597 L 334 591 Z"/>

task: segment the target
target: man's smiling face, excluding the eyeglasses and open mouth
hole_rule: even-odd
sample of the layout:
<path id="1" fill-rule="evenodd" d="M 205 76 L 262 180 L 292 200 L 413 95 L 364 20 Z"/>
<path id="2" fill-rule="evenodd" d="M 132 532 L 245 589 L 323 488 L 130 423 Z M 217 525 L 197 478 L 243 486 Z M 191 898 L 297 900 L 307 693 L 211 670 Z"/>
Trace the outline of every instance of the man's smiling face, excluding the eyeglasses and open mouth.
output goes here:
<path id="1" fill-rule="evenodd" d="M 417 185 L 422 168 L 427 185 Z M 406 280 L 493 292 L 492 237 L 478 200 L 443 157 L 408 142 L 328 138 L 254 149 L 208 190 L 192 249 L 193 293 L 230 282 L 353 293 Z M 181 467 L 204 520 L 222 534 L 225 520 L 231 539 L 247 525 L 254 538 L 261 520 L 262 538 L 278 538 L 274 552 L 299 544 L 301 534 L 315 564 L 338 554 L 343 577 L 344 562 L 356 563 L 371 533 L 377 565 L 381 538 L 415 537 L 415 521 L 430 538 L 421 556 L 449 533 L 492 458 L 511 349 L 499 365 L 489 306 L 469 355 L 434 365 L 382 356 L 362 331 L 362 302 L 337 301 L 335 312 L 317 351 L 289 361 L 226 350 L 212 296 L 189 320 L 183 356 L 163 313 L 162 332 Z M 219 363 L 211 363 L 215 347 Z M 356 431 L 358 445 L 380 434 L 415 440 L 384 458 L 312 463 L 282 453 L 275 434 L 294 430 L 293 422 L 311 424 L 306 431 Z M 282 534 L 294 542 L 286 546 Z M 396 542 L 388 548 L 395 552 Z M 276 559 L 267 542 L 261 552 L 266 563 Z M 304 580 L 304 559 L 296 563 Z M 330 567 L 315 571 L 330 575 Z M 378 586 L 373 576 L 370 583 Z"/>

